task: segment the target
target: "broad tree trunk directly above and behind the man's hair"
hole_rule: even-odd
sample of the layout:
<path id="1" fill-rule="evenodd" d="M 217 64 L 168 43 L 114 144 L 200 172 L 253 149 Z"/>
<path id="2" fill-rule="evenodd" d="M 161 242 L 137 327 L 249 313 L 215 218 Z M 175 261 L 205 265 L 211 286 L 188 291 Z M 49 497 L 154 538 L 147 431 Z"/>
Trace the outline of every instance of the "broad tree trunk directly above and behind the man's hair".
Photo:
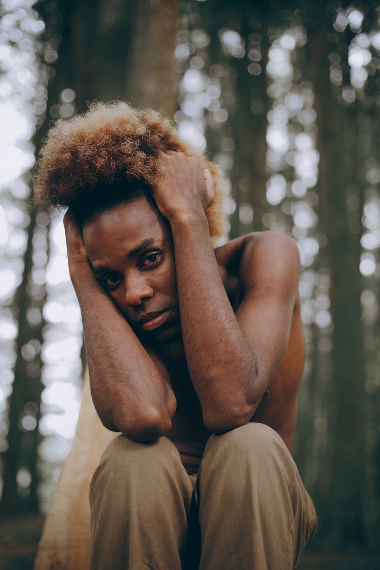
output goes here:
<path id="1" fill-rule="evenodd" d="M 61 88 L 78 112 L 93 100 L 126 99 L 173 116 L 178 0 L 67 0 L 60 3 L 66 54 Z"/>

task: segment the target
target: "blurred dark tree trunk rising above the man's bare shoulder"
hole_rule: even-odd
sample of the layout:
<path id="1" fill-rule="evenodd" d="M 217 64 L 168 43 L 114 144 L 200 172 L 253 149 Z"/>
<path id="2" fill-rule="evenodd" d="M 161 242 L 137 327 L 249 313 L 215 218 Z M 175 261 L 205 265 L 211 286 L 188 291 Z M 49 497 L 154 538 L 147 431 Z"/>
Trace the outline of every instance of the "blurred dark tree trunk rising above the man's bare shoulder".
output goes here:
<path id="1" fill-rule="evenodd" d="M 218 17 L 215 17 L 215 13 Z M 265 66 L 270 6 L 262 1 L 252 3 L 218 0 L 201 5 L 200 14 L 202 25 L 211 38 L 208 50 L 210 64 L 221 64 L 225 69 L 231 67 L 236 72 L 235 101 L 230 105 L 228 121 L 230 135 L 235 142 L 231 183 L 236 209 L 230 218 L 230 237 L 235 238 L 248 231 L 263 229 L 261 218 L 266 204 L 265 134 L 268 111 Z M 220 33 L 228 29 L 240 34 L 244 43 L 244 55 L 223 55 Z M 231 79 L 226 79 L 228 81 L 231 82 Z M 222 86 L 222 100 L 223 97 Z M 216 132 L 212 128 L 207 130 L 207 143 L 213 152 L 218 152 L 220 129 Z M 252 223 L 240 222 L 239 206 L 242 202 L 253 206 Z"/>

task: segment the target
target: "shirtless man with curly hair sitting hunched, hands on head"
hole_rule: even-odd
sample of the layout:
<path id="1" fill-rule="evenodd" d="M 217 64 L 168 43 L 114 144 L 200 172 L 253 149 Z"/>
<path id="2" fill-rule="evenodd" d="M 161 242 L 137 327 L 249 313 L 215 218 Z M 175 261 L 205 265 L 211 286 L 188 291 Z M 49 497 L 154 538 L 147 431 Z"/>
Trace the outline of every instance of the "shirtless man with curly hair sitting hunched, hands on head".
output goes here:
<path id="1" fill-rule="evenodd" d="M 59 121 L 35 191 L 69 207 L 92 397 L 122 434 L 91 483 L 91 567 L 292 568 L 316 526 L 289 453 L 295 242 L 264 232 L 213 249 L 215 165 L 125 103 Z"/>

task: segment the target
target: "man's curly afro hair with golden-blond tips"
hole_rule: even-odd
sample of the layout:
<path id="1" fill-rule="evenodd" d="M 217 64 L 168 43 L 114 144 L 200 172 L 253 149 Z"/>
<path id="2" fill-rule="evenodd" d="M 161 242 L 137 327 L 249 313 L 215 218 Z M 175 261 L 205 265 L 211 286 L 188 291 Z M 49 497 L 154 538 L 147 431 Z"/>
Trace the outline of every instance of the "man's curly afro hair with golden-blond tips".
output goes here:
<path id="1" fill-rule="evenodd" d="M 207 209 L 211 238 L 226 231 L 226 185 L 217 165 L 181 140 L 173 124 L 153 109 L 134 109 L 124 101 L 92 103 L 48 131 L 36 164 L 37 205 L 69 207 L 83 223 L 116 203 L 138 196 L 149 199 L 150 186 L 164 166 L 158 153 L 174 150 L 198 158 L 215 181 L 215 200 Z"/>

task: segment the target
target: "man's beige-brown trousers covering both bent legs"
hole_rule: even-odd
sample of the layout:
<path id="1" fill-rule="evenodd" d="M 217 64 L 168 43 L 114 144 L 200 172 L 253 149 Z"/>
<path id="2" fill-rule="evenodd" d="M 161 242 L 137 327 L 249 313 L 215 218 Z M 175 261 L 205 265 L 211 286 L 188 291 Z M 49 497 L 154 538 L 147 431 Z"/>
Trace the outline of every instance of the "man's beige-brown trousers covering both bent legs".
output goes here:
<path id="1" fill-rule="evenodd" d="M 91 482 L 90 568 L 295 566 L 316 511 L 275 431 L 251 423 L 211 435 L 191 479 L 169 439 L 113 439 Z"/>

